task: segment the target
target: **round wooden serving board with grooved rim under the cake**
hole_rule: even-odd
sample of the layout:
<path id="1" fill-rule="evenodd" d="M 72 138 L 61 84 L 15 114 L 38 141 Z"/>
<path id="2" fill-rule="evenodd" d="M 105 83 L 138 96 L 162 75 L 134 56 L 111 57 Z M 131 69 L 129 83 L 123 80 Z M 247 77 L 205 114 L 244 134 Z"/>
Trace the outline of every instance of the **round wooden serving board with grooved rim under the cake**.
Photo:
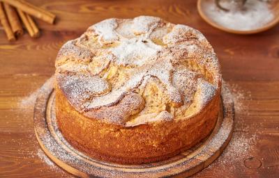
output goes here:
<path id="1" fill-rule="evenodd" d="M 34 129 L 40 147 L 64 170 L 79 177 L 188 177 L 218 158 L 232 138 L 234 103 L 223 85 L 220 115 L 210 136 L 186 152 L 156 163 L 121 165 L 91 159 L 63 138 L 56 125 L 53 77 L 40 89 L 34 108 Z"/>

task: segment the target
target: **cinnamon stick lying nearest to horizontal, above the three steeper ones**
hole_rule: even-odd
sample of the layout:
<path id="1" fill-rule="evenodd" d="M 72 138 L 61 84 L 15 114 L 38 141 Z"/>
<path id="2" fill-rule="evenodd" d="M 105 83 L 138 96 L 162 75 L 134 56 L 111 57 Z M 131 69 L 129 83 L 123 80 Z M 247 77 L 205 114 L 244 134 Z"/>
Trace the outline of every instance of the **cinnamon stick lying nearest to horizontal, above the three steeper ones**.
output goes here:
<path id="1" fill-rule="evenodd" d="M 54 19 L 55 19 L 54 14 L 48 12 L 43 8 L 33 6 L 33 4 L 28 3 L 27 1 L 23 1 L 23 0 L 1 0 L 1 1 L 9 3 L 11 6 L 14 6 L 17 9 L 24 11 L 24 13 L 32 15 L 33 17 L 36 17 L 38 19 L 42 19 L 47 23 L 50 24 L 54 23 Z"/>

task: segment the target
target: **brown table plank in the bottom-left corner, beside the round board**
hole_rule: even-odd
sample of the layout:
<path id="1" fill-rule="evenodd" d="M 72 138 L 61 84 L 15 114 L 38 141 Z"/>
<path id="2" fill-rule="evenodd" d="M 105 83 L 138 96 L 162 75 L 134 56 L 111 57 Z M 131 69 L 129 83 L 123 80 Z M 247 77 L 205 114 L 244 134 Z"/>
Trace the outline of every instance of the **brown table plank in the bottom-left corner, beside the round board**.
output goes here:
<path id="1" fill-rule="evenodd" d="M 33 131 L 1 133 L 0 142 L 0 177 L 69 176 L 45 157 Z"/>

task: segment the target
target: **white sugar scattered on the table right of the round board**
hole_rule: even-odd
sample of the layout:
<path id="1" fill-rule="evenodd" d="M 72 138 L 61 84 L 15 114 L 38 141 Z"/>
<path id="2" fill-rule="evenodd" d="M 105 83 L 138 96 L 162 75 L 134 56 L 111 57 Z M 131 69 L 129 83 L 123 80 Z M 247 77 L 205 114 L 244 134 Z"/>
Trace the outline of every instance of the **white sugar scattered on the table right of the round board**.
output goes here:
<path id="1" fill-rule="evenodd" d="M 223 86 L 227 86 L 230 90 L 236 115 L 237 113 L 246 113 L 246 115 L 249 115 L 247 100 L 251 100 L 250 91 L 243 90 L 241 86 L 235 83 L 223 83 Z M 240 122 L 241 118 L 236 118 L 235 127 L 249 129 L 248 126 L 239 125 L 238 121 Z M 214 169 L 216 177 L 223 175 L 223 172 L 226 172 L 226 177 L 234 177 L 234 172 L 245 169 L 243 161 L 252 156 L 252 150 L 254 150 L 257 144 L 258 135 L 257 133 L 236 131 L 237 129 L 239 128 L 234 128 L 232 140 L 230 140 L 220 157 L 211 163 L 208 168 L 197 173 L 196 177 L 204 177 L 212 169 Z M 225 131 L 223 131 L 224 135 Z M 220 140 L 222 138 L 222 133 L 220 133 Z"/>

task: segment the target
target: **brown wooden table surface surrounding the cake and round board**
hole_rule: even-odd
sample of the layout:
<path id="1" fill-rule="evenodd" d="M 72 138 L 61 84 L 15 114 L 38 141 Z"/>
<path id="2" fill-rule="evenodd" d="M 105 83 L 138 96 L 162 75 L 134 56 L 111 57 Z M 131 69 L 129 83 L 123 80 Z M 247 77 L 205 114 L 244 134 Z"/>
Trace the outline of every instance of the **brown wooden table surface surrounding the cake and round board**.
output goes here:
<path id="1" fill-rule="evenodd" d="M 162 17 L 202 31 L 218 54 L 236 104 L 234 136 L 209 168 L 193 177 L 279 176 L 279 25 L 256 35 L 214 29 L 196 1 L 29 0 L 57 15 L 36 21 L 41 37 L 27 33 L 8 42 L 0 29 L 0 177 L 70 177 L 45 157 L 33 131 L 36 90 L 54 74 L 61 45 L 91 24 L 110 17 Z M 33 95 L 31 94 L 33 92 Z"/>

